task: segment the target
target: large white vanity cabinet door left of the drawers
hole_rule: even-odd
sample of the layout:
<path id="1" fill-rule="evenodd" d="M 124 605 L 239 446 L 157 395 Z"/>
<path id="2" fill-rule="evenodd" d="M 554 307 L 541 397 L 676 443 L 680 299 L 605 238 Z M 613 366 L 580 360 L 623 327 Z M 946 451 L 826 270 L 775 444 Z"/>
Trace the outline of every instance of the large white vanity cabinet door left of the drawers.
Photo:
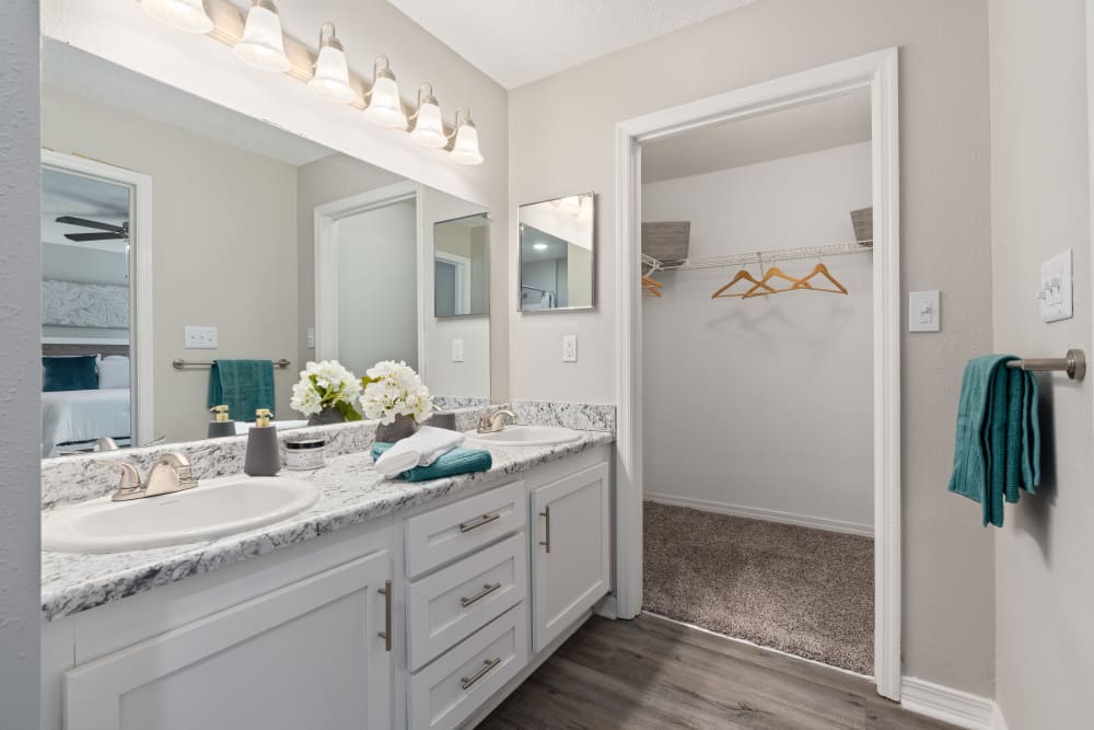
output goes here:
<path id="1" fill-rule="evenodd" d="M 374 553 L 65 673 L 68 730 L 387 730 L 391 554 Z"/>

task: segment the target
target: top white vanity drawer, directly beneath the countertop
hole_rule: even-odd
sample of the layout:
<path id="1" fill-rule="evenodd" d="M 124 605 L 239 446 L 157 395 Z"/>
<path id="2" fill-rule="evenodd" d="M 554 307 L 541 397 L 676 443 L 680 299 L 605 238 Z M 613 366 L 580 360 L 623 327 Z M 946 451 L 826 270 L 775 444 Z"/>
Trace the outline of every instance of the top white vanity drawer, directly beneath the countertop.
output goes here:
<path id="1" fill-rule="evenodd" d="M 438 508 L 406 521 L 407 576 L 416 578 L 526 524 L 523 482 Z"/>

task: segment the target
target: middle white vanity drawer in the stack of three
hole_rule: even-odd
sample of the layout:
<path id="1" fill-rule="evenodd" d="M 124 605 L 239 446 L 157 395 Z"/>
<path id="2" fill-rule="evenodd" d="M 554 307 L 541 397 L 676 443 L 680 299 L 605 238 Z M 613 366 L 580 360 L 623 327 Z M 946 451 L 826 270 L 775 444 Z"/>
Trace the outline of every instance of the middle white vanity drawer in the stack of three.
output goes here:
<path id="1" fill-rule="evenodd" d="M 410 670 L 490 623 L 528 592 L 524 532 L 410 584 Z"/>

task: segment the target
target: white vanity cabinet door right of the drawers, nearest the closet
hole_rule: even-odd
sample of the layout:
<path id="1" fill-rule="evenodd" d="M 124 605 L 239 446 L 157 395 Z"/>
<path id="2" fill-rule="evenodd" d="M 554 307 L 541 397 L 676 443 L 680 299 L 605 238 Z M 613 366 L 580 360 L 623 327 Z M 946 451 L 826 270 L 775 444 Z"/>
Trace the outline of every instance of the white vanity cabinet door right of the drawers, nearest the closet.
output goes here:
<path id="1" fill-rule="evenodd" d="M 538 653 L 610 590 L 608 465 L 532 490 L 532 626 Z"/>

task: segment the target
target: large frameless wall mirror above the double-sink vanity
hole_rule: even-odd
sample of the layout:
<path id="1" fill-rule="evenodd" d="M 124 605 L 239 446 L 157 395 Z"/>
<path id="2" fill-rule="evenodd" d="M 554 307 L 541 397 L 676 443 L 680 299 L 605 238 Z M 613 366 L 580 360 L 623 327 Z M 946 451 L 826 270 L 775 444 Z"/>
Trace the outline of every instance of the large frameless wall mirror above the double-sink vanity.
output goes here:
<path id="1" fill-rule="evenodd" d="M 212 362 L 257 369 L 219 391 L 241 430 L 306 422 L 310 360 L 489 401 L 485 208 L 48 38 L 42 76 L 43 456 L 205 438 Z M 445 257 L 479 316 L 435 309 Z"/>

